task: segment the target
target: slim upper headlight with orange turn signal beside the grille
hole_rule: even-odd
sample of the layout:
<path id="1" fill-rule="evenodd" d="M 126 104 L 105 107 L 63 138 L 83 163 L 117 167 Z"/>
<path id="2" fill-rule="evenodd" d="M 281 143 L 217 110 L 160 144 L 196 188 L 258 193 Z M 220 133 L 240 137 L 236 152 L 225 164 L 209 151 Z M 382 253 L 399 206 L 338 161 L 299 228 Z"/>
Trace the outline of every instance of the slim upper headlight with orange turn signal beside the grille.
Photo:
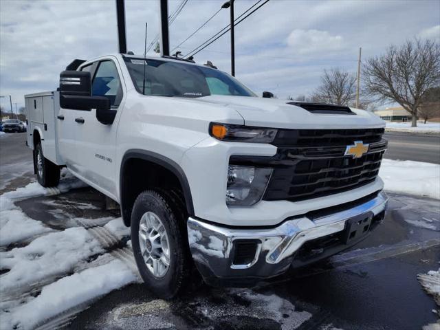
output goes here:
<path id="1" fill-rule="evenodd" d="M 217 140 L 236 142 L 270 143 L 274 141 L 276 129 L 251 127 L 211 122 L 209 133 Z"/>

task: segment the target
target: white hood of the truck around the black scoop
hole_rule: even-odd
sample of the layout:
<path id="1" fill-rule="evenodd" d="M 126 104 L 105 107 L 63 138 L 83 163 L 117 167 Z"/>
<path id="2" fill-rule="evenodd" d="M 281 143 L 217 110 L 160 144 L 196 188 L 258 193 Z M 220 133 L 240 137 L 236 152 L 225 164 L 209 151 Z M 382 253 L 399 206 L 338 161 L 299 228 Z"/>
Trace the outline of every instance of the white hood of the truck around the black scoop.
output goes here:
<path id="1" fill-rule="evenodd" d="M 369 111 L 353 109 L 352 114 L 311 113 L 289 100 L 253 98 L 246 96 L 204 96 L 197 102 L 223 105 L 237 111 L 247 126 L 265 126 L 280 129 L 355 129 L 380 128 L 385 122 Z"/>

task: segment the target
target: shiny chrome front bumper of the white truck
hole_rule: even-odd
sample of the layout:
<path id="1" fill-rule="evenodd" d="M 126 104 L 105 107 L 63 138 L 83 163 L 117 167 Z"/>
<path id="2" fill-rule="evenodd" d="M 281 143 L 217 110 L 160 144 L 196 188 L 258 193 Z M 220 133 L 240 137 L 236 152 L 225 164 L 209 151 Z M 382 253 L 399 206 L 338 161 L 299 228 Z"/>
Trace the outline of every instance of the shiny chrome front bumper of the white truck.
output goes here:
<path id="1" fill-rule="evenodd" d="M 226 228 L 190 217 L 190 252 L 207 283 L 252 285 L 261 278 L 282 274 L 292 265 L 318 261 L 362 241 L 384 219 L 387 201 L 381 191 L 342 206 L 286 219 L 272 228 Z M 342 239 L 349 221 L 361 223 L 366 219 L 369 226 L 364 232 Z M 301 248 L 314 242 L 319 243 L 319 249 L 311 250 L 318 252 L 305 258 Z"/>

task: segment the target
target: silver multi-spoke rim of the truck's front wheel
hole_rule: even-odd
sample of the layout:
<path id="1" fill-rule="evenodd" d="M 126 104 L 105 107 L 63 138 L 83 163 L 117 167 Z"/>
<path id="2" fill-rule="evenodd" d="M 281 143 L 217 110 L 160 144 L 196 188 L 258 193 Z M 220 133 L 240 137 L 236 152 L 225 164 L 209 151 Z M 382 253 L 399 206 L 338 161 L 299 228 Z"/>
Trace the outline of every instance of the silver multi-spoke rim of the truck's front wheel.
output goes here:
<path id="1" fill-rule="evenodd" d="M 146 268 L 155 277 L 164 277 L 170 266 L 170 249 L 164 223 L 153 212 L 140 218 L 139 245 Z"/>

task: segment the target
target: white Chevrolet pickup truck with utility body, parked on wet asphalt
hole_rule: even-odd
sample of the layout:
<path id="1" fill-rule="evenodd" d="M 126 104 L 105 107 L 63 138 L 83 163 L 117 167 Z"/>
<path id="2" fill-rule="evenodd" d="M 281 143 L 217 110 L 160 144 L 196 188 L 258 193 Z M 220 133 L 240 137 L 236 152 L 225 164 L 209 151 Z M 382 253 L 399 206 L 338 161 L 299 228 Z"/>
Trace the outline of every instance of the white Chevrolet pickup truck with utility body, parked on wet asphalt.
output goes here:
<path id="1" fill-rule="evenodd" d="M 126 54 L 75 60 L 25 105 L 40 184 L 66 166 L 117 201 L 140 274 L 164 298 L 193 265 L 211 285 L 248 286 L 384 219 L 373 113 L 260 98 L 214 67 Z"/>

